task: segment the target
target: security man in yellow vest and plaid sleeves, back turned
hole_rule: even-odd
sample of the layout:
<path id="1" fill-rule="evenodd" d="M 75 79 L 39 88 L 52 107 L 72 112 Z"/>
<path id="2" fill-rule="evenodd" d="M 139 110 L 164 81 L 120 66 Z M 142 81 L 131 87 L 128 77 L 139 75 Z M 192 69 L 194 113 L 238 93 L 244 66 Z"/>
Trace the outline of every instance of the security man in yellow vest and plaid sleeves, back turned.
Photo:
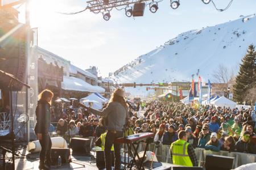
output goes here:
<path id="1" fill-rule="evenodd" d="M 186 167 L 197 167 L 196 153 L 192 145 L 187 142 L 188 137 L 186 131 L 181 130 L 178 136 L 179 140 L 173 142 L 170 148 L 172 163 Z"/>

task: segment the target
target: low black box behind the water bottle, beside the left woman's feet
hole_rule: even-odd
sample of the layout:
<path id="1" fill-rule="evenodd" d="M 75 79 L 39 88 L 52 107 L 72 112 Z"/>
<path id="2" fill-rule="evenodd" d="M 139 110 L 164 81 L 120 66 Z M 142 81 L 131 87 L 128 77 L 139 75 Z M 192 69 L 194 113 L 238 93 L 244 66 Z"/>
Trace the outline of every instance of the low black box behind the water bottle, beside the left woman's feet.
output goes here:
<path id="1" fill-rule="evenodd" d="M 61 164 L 68 163 L 69 149 L 52 147 L 51 149 L 52 162 L 57 164 L 59 156 L 61 158 Z"/>

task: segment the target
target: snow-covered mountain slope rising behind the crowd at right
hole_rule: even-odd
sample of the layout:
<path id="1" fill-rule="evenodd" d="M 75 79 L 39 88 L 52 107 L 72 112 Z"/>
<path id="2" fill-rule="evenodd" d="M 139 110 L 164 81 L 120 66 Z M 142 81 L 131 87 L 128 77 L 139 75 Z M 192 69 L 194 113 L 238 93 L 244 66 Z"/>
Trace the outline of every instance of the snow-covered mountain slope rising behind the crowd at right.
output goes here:
<path id="1" fill-rule="evenodd" d="M 115 83 L 159 83 L 212 78 L 222 64 L 239 68 L 250 44 L 256 45 L 256 16 L 181 33 L 110 75 Z M 196 76 L 195 76 L 196 78 Z"/>

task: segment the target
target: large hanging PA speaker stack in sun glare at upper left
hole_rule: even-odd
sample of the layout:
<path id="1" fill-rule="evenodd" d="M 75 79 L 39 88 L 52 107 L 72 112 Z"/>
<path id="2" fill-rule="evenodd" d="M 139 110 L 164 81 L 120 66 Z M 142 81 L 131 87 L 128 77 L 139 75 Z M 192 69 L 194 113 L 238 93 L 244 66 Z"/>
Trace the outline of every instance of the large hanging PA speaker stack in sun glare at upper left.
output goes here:
<path id="1" fill-rule="evenodd" d="M 16 29 L 14 28 L 16 27 Z M 0 42 L 0 69 L 26 82 L 26 26 L 0 25 L 0 37 L 15 29 L 15 32 Z M 0 73 L 0 88 L 8 87 L 11 79 Z M 13 83 L 13 90 L 21 90 L 22 85 Z"/>

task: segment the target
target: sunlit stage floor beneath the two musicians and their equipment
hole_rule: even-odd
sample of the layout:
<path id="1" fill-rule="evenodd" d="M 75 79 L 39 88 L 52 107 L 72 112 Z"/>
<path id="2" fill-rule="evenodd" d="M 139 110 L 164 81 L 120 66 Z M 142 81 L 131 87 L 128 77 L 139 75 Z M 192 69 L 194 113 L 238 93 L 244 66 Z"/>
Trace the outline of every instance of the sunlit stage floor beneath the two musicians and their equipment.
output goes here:
<path id="1" fill-rule="evenodd" d="M 25 156 L 20 156 L 20 158 L 15 158 L 15 169 L 17 170 L 29 170 L 29 169 L 34 169 L 38 170 L 39 166 L 39 153 L 35 154 L 30 154 L 27 152 L 26 148 L 19 150 L 21 154 L 27 155 L 27 158 Z M 6 154 L 8 159 L 11 159 L 11 154 L 7 153 Z M 85 167 L 82 165 L 76 164 L 76 163 L 65 163 L 59 167 L 52 167 L 51 169 L 89 169 L 89 170 L 96 170 L 98 169 L 96 166 L 96 152 L 91 152 L 91 155 L 71 155 L 72 161 L 77 162 L 80 164 L 84 164 Z M 8 162 L 8 160 L 6 160 Z M 1 160 L 1 165 L 2 165 L 2 160 Z M 148 162 L 146 165 L 144 165 L 145 169 L 150 169 L 151 162 Z M 158 163 L 154 162 L 153 167 L 171 167 L 171 164 L 167 163 Z M 8 170 L 10 168 L 7 168 Z"/>

